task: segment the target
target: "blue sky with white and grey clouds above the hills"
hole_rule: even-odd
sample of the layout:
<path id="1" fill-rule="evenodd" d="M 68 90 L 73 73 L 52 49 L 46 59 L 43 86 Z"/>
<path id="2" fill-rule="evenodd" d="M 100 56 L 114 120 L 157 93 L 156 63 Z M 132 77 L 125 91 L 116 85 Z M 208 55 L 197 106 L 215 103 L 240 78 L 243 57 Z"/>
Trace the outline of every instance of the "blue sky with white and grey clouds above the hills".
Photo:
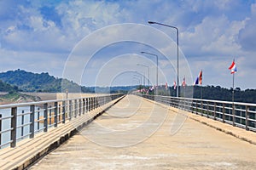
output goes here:
<path id="1" fill-rule="evenodd" d="M 255 0 L 0 0 L 0 71 L 116 86 L 146 83 L 149 70 L 151 85 L 172 86 L 177 32 L 148 20 L 178 28 L 179 84 L 202 70 L 204 86 L 230 88 L 236 59 L 235 88 L 256 88 Z"/>

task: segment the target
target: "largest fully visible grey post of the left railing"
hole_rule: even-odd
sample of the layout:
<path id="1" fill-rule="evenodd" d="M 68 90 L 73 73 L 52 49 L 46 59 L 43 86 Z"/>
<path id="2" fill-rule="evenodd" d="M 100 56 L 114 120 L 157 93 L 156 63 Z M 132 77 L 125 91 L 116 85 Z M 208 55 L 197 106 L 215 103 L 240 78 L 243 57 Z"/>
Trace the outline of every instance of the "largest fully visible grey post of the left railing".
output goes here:
<path id="1" fill-rule="evenodd" d="M 10 143 L 10 146 L 12 147 L 12 148 L 14 148 L 15 146 L 16 146 L 16 142 L 17 142 L 17 140 L 16 140 L 16 131 L 17 131 L 17 128 L 16 128 L 16 126 L 17 126 L 17 107 L 12 107 L 11 108 L 11 116 L 12 116 L 12 118 L 11 118 L 11 128 L 12 128 L 12 130 L 11 130 L 11 140 L 12 140 L 12 142 Z"/>

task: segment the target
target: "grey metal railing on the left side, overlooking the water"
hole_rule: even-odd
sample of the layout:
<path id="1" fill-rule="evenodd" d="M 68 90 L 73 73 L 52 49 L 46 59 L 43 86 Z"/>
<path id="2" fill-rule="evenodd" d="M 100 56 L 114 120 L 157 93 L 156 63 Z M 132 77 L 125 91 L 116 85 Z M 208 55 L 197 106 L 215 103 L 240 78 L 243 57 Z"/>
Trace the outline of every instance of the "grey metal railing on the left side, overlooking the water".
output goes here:
<path id="1" fill-rule="evenodd" d="M 35 133 L 46 133 L 50 127 L 58 127 L 123 95 L 0 105 L 0 149 L 15 147 L 20 139 L 32 139 Z"/>

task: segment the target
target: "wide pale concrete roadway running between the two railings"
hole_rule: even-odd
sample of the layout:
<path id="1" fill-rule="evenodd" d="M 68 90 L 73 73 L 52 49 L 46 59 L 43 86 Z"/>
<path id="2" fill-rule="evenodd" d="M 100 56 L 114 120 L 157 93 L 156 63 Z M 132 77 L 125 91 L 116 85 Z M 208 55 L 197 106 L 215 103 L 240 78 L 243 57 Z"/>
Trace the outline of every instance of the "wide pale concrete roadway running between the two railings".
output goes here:
<path id="1" fill-rule="evenodd" d="M 171 134 L 171 127 L 178 127 L 183 117 L 178 117 L 175 109 L 166 108 L 126 96 L 32 169 L 256 168 L 255 144 L 193 120 L 201 119 L 199 116 L 187 119 L 177 133 Z M 220 129 L 229 126 L 235 133 L 250 135 L 248 140 L 255 139 L 255 133 L 212 122 Z"/>

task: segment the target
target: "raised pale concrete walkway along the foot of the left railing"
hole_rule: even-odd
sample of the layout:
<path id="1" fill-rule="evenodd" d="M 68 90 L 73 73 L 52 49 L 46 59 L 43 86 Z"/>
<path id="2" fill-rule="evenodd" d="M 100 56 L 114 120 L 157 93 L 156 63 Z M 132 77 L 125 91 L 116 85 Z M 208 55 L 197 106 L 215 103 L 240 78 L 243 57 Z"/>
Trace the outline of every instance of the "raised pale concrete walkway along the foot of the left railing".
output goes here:
<path id="1" fill-rule="evenodd" d="M 4 148 L 0 150 L 0 169 L 23 169 L 41 156 L 55 149 L 59 144 L 70 138 L 77 129 L 88 124 L 98 116 L 102 110 L 107 109 L 119 99 L 115 99 L 101 108 L 89 111 L 78 118 L 58 127 L 49 128 L 47 133 L 38 133 L 34 139 L 23 139 L 17 143 L 15 148 Z"/>

